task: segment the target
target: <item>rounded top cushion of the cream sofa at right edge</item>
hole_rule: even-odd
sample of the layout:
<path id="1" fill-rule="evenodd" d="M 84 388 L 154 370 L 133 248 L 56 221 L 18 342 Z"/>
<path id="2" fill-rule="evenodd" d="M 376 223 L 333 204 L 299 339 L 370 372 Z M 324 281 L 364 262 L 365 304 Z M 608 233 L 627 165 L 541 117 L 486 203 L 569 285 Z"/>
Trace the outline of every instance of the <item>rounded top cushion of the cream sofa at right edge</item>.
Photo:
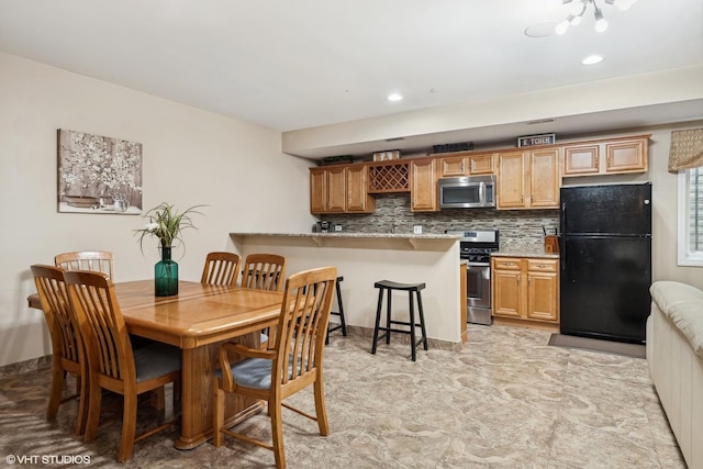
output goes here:
<path id="1" fill-rule="evenodd" d="M 703 358 L 703 291 L 685 283 L 658 281 L 649 292 L 659 310 L 687 336 L 695 355 Z"/>

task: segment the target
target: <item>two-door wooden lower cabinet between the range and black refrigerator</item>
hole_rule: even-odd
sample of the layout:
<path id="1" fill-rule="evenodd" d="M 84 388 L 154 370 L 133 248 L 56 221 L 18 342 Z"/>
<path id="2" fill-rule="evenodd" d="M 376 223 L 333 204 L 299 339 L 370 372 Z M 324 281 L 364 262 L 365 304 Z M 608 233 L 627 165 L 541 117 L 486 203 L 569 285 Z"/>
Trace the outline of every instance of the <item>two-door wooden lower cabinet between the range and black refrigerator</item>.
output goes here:
<path id="1" fill-rule="evenodd" d="M 491 258 L 493 316 L 559 323 L 559 259 Z"/>

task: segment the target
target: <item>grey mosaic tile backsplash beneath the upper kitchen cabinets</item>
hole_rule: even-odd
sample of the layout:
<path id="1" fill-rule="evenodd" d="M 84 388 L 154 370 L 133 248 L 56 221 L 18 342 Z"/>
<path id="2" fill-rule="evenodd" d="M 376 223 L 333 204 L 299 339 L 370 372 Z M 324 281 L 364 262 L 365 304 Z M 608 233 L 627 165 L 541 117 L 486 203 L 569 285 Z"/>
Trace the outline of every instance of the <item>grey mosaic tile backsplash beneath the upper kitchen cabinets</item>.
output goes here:
<path id="1" fill-rule="evenodd" d="M 439 212 L 411 212 L 410 196 L 376 196 L 376 212 L 370 214 L 330 214 L 320 217 L 342 225 L 353 233 L 412 233 L 422 225 L 423 233 L 445 230 L 499 230 L 501 248 L 543 245 L 543 226 L 554 234 L 559 226 L 558 210 L 453 209 Z"/>

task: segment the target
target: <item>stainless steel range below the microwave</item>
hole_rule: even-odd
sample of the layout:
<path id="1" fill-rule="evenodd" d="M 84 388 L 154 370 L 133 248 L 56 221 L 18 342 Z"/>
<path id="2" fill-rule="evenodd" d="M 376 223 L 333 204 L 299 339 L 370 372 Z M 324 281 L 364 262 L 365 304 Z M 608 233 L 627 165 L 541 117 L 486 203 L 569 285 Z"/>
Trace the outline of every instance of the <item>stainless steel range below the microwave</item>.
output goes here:
<path id="1" fill-rule="evenodd" d="M 499 248 L 498 230 L 447 233 L 461 235 L 460 257 L 467 260 L 467 321 L 491 325 L 491 253 Z"/>

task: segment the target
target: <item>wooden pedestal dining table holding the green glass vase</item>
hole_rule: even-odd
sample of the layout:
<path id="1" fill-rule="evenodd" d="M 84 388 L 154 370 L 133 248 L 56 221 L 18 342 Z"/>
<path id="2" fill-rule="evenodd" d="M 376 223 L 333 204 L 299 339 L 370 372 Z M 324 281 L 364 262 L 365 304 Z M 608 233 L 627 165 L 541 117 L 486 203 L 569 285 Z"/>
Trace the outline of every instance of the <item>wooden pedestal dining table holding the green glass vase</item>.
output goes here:
<path id="1" fill-rule="evenodd" d="M 179 281 L 174 297 L 155 297 L 154 280 L 114 288 L 130 334 L 181 348 L 181 435 L 175 446 L 194 448 L 212 436 L 212 371 L 220 345 L 258 347 L 260 331 L 278 321 L 283 293 L 191 281 Z M 36 294 L 29 303 L 41 309 Z M 236 394 L 228 395 L 225 405 L 227 426 L 264 409 L 264 403 Z"/>

